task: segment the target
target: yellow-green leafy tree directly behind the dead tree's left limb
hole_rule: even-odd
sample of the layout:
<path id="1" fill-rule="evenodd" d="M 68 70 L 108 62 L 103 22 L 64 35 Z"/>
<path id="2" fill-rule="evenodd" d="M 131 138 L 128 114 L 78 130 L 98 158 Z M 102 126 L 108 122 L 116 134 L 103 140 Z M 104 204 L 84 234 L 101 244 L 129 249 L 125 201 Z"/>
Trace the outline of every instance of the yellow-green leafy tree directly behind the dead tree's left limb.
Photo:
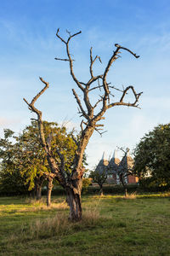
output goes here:
<path id="1" fill-rule="evenodd" d="M 76 143 L 71 137 L 71 133 L 66 131 L 66 128 L 59 127 L 57 123 L 43 121 L 44 136 L 51 141 L 53 156 L 56 162 L 59 163 L 59 154 L 63 155 L 65 161 L 65 170 L 69 174 Z M 19 137 L 16 137 L 20 145 L 20 173 L 26 177 L 26 183 L 29 184 L 29 190 L 35 191 L 36 198 L 41 198 L 42 185 L 48 181 L 47 205 L 51 202 L 51 190 L 53 188 L 54 174 L 48 166 L 48 160 L 44 149 L 40 144 L 37 121 L 32 120 L 31 125 L 26 126 Z M 60 152 L 57 154 L 57 152 Z"/>

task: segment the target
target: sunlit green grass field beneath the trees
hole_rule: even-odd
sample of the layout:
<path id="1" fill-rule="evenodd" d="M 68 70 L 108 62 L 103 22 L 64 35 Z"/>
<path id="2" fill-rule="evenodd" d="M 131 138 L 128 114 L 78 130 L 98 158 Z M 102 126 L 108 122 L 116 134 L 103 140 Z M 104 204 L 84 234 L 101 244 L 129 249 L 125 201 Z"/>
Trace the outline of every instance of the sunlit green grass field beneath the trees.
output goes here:
<path id="1" fill-rule="evenodd" d="M 64 197 L 0 197 L 0 255 L 170 255 L 170 197 L 83 196 L 71 224 Z"/>

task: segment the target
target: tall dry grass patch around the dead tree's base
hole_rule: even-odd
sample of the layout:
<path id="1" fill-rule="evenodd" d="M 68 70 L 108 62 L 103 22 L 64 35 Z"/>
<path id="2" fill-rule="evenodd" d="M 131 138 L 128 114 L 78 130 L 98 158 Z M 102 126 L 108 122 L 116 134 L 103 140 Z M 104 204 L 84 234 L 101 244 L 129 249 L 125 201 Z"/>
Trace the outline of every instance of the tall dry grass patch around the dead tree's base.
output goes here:
<path id="1" fill-rule="evenodd" d="M 58 207 L 63 207 L 59 204 Z M 89 208 L 82 213 L 82 220 L 72 223 L 68 218 L 68 212 L 58 212 L 51 218 L 37 219 L 28 225 L 22 225 L 16 234 L 8 237 L 8 244 L 18 241 L 32 241 L 47 239 L 53 236 L 65 236 L 79 230 L 88 230 L 104 219 L 100 217 L 97 209 Z"/>

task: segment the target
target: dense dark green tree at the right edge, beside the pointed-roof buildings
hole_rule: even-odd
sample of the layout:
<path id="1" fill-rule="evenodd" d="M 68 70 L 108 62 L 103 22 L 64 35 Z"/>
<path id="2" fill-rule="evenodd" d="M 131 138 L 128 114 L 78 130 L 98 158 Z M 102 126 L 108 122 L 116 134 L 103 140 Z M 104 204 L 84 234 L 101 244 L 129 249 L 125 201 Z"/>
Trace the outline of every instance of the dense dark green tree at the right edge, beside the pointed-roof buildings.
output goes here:
<path id="1" fill-rule="evenodd" d="M 134 149 L 134 174 L 151 176 L 159 185 L 170 183 L 170 124 L 157 125 Z"/>

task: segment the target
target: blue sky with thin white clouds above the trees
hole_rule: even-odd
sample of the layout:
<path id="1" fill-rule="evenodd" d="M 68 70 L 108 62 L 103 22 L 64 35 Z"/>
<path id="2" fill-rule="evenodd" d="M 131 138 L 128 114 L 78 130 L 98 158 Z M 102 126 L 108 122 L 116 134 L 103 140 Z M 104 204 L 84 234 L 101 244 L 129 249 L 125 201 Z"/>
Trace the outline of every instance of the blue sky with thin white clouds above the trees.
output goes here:
<path id="1" fill-rule="evenodd" d="M 94 134 L 87 153 L 94 166 L 103 151 L 107 156 L 116 146 L 133 148 L 145 132 L 170 116 L 170 2 L 168 0 L 7 0 L 0 3 L 0 136 L 3 128 L 19 132 L 35 117 L 22 98 L 28 101 L 42 88 L 39 76 L 50 88 L 37 102 L 43 118 L 79 127 L 77 104 L 71 94 L 65 49 L 55 37 L 57 28 L 66 37 L 82 30 L 71 44 L 77 78 L 89 78 L 89 49 L 100 55 L 95 73 L 104 70 L 114 44 L 132 49 L 139 59 L 122 52 L 108 76 L 117 87 L 133 84 L 143 91 L 138 108 L 114 108 L 105 115 L 103 137 Z"/>

